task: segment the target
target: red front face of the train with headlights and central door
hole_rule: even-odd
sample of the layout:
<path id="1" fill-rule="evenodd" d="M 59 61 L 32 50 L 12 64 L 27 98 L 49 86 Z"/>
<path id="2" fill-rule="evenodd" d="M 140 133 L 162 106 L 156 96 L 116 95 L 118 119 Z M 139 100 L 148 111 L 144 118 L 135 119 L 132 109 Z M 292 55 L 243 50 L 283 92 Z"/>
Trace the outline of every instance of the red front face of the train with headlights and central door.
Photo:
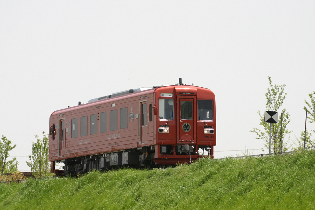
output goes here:
<path id="1" fill-rule="evenodd" d="M 157 164 L 213 158 L 216 144 L 215 95 L 207 89 L 179 83 L 155 91 L 155 156 Z"/>

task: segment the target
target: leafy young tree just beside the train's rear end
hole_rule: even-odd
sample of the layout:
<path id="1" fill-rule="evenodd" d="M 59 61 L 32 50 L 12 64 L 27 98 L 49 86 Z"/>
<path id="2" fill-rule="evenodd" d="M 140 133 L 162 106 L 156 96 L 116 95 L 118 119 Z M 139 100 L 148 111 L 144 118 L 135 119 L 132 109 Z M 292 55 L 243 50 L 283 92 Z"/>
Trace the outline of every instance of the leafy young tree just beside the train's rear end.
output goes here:
<path id="1" fill-rule="evenodd" d="M 43 139 L 35 135 L 36 142 L 32 142 L 32 155 L 30 162 L 26 162 L 35 177 L 50 176 L 50 162 L 48 160 L 48 136 L 43 132 Z"/>

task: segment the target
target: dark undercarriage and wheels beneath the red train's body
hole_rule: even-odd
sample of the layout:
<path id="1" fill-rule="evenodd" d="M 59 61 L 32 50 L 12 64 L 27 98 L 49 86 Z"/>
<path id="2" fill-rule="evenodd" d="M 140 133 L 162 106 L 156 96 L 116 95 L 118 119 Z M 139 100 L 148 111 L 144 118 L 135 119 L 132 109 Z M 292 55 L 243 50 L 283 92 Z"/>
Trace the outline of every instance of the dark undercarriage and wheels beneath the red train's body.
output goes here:
<path id="1" fill-rule="evenodd" d="M 64 159 L 62 170 L 55 170 L 55 162 L 52 162 L 51 172 L 58 176 L 77 176 L 92 170 L 106 171 L 112 168 L 133 167 L 133 168 L 155 168 L 168 167 L 178 163 L 192 163 L 192 161 L 203 157 L 204 152 L 207 156 L 211 154 L 210 146 L 194 145 L 160 145 L 159 157 L 155 158 L 154 146 L 145 146 L 129 150 L 102 153 L 97 155 L 74 157 Z M 162 157 L 162 158 L 161 158 Z"/>

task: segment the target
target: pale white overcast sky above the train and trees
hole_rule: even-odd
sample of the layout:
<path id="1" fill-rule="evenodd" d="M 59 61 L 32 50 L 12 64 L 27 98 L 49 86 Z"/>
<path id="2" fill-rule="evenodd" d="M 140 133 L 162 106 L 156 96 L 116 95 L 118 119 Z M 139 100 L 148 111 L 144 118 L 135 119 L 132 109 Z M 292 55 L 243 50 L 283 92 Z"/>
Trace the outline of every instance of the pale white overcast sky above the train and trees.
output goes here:
<path id="1" fill-rule="evenodd" d="M 287 85 L 295 139 L 315 91 L 314 11 L 315 1 L 0 0 L 0 136 L 30 171 L 53 111 L 181 77 L 216 95 L 215 157 L 243 155 L 216 151 L 262 147 L 249 131 L 261 128 L 270 76 Z"/>

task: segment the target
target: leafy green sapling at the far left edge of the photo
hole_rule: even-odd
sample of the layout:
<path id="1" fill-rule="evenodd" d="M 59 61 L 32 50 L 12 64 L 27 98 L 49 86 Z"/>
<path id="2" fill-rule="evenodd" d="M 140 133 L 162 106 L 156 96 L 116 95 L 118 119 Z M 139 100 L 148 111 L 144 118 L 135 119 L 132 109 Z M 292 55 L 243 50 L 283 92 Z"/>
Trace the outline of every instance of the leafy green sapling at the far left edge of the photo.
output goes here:
<path id="1" fill-rule="evenodd" d="M 0 172 L 1 176 L 3 173 L 10 173 L 17 171 L 17 162 L 14 157 L 12 160 L 8 160 L 9 151 L 13 150 L 16 145 L 11 146 L 11 141 L 7 137 L 2 136 L 0 141 Z"/>

